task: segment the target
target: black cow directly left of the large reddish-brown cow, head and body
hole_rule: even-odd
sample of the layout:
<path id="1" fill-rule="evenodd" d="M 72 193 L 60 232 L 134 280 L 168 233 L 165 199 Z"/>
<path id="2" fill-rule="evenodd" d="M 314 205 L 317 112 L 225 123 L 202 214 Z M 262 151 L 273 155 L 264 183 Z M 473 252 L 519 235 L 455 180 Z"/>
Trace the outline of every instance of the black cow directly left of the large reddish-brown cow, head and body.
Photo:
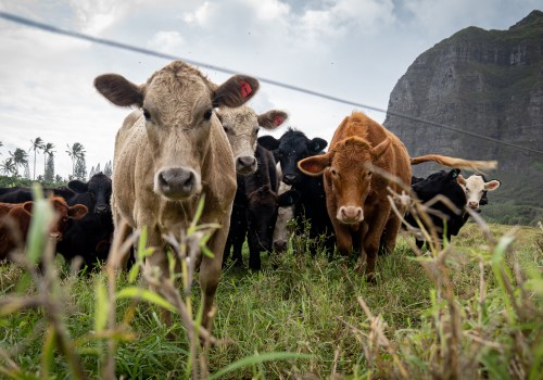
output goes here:
<path id="1" fill-rule="evenodd" d="M 328 143 L 318 137 L 310 140 L 302 131 L 293 128 L 289 128 L 279 140 L 273 136 L 260 137 L 258 143 L 274 153 L 281 166 L 281 180 L 300 193 L 300 200 L 294 206 L 298 228 L 303 227 L 304 219 L 307 220 L 310 239 L 315 242 L 324 236 L 324 246 L 331 256 L 334 249 L 333 227 L 326 208 L 323 176 L 307 176 L 298 168 L 300 160 L 321 153 Z"/>

